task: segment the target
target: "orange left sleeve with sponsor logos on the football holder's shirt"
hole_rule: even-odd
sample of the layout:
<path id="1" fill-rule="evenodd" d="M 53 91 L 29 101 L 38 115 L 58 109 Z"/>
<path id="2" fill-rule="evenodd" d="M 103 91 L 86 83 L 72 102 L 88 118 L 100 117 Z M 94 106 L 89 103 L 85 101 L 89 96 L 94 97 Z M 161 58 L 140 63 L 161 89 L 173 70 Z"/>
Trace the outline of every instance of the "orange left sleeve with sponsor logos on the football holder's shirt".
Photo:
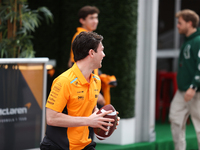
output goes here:
<path id="1" fill-rule="evenodd" d="M 65 78 L 54 80 L 51 92 L 47 99 L 46 107 L 57 112 L 62 112 L 69 100 L 69 85 Z"/>

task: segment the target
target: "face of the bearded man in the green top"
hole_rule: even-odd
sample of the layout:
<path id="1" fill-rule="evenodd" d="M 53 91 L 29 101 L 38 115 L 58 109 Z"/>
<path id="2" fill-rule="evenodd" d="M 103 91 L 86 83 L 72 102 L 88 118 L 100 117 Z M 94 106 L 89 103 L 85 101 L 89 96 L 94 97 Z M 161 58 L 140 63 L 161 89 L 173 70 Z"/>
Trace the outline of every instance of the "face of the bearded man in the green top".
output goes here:
<path id="1" fill-rule="evenodd" d="M 180 34 L 187 34 L 190 22 L 186 22 L 182 17 L 178 18 L 177 28 Z"/>

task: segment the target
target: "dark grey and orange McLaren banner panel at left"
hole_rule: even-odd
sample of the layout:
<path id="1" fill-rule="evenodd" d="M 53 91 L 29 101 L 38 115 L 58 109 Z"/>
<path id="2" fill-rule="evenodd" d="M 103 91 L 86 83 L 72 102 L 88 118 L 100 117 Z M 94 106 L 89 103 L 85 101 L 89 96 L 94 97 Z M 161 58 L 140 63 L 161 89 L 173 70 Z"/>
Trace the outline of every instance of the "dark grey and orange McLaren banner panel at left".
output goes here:
<path id="1" fill-rule="evenodd" d="M 0 150 L 39 147 L 43 65 L 0 65 Z"/>

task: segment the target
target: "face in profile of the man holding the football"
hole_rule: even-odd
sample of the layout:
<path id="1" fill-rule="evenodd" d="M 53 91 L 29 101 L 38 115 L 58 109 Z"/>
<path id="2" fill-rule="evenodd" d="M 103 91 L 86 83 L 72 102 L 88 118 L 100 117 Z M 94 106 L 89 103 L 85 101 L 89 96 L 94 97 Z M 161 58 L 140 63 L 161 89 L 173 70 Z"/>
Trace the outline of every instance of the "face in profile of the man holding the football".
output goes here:
<path id="1" fill-rule="evenodd" d="M 105 57 L 105 53 L 104 53 L 104 46 L 103 44 L 100 42 L 99 46 L 97 48 L 97 52 L 94 52 L 94 64 L 95 64 L 95 68 L 101 68 L 102 66 L 102 60 L 103 57 Z"/>

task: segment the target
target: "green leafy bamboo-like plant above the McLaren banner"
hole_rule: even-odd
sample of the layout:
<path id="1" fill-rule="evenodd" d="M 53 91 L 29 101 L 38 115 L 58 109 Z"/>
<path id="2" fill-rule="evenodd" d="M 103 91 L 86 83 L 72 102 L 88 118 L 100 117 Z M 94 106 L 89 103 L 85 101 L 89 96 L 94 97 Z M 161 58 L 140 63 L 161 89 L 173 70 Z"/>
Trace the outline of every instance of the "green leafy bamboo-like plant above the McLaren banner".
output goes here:
<path id="1" fill-rule="evenodd" d="M 0 3 L 0 32 L 2 33 L 0 56 L 6 58 L 32 58 L 35 57 L 35 51 L 31 41 L 31 39 L 33 39 L 31 32 L 35 32 L 35 29 L 41 24 L 40 20 L 42 20 L 43 17 L 41 17 L 39 13 L 42 12 L 44 14 L 47 23 L 50 21 L 53 22 L 53 15 L 46 7 L 31 10 L 28 7 L 27 0 L 18 0 L 17 3 L 22 5 L 21 14 L 19 14 L 19 12 L 14 12 L 13 0 L 3 0 L 2 3 Z M 16 37 L 8 39 L 7 23 L 8 21 L 13 23 L 15 17 L 17 21 Z M 21 27 L 19 26 L 20 20 L 22 20 Z"/>

